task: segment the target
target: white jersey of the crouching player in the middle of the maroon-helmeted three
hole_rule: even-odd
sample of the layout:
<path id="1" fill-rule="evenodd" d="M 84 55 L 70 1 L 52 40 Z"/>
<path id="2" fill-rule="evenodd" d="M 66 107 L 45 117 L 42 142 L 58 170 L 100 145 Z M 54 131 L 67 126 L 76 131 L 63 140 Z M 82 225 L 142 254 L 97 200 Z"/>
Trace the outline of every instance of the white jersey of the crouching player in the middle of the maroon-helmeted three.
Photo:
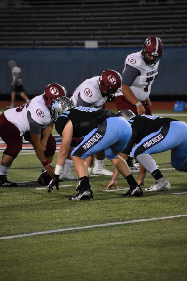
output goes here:
<path id="1" fill-rule="evenodd" d="M 104 98 L 101 96 L 99 90 L 98 79 L 100 76 L 95 76 L 90 79 L 86 79 L 82 82 L 73 92 L 71 100 L 74 102 L 74 105 L 77 105 L 78 94 L 80 93 L 80 98 L 88 102 L 90 107 L 101 108 L 103 104 L 107 101 L 107 97 Z"/>

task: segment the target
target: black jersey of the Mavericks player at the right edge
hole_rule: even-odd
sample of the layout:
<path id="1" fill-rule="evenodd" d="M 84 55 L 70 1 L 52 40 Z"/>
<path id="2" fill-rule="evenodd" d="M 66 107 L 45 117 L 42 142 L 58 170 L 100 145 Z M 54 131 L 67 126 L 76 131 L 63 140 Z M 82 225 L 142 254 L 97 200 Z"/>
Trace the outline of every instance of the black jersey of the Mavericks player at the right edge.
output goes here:
<path id="1" fill-rule="evenodd" d="M 178 120 L 145 114 L 132 117 L 128 120 L 132 128 L 132 135 L 123 153 L 129 154 L 134 143 L 139 143 L 144 137 L 153 132 L 157 132 L 162 126 L 170 123 L 171 121 Z"/>

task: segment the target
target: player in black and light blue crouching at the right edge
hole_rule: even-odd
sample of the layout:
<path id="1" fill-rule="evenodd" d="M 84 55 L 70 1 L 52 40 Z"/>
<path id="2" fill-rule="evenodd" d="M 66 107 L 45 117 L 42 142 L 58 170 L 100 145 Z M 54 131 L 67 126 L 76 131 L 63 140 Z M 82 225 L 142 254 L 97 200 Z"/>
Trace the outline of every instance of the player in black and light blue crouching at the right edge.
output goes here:
<path id="1" fill-rule="evenodd" d="M 146 171 L 148 171 L 156 180 L 156 184 L 146 188 L 146 191 L 169 190 L 170 183 L 158 169 L 151 154 L 171 150 L 171 165 L 177 171 L 187 172 L 187 124 L 160 116 L 145 114 L 136 116 L 131 110 L 127 109 L 118 113 L 128 120 L 132 128 L 131 139 L 121 156 L 126 159 L 134 143 L 137 144 L 132 149 L 133 157 L 141 164 L 137 183 L 139 185 L 144 183 Z M 112 180 L 106 189 L 111 185 L 117 187 L 117 175 L 118 172 L 115 170 Z"/>

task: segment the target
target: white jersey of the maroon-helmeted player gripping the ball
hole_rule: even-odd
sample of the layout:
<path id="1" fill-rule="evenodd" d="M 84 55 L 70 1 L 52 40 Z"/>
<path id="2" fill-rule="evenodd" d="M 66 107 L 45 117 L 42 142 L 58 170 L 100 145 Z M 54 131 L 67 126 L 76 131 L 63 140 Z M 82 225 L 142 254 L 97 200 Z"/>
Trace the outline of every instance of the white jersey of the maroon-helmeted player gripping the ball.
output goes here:
<path id="1" fill-rule="evenodd" d="M 14 124 L 20 131 L 20 136 L 26 131 L 30 131 L 27 112 L 30 111 L 31 118 L 38 124 L 42 125 L 42 131 L 52 122 L 50 110 L 45 105 L 43 95 L 35 96 L 31 101 L 16 108 L 4 111 L 8 121 Z"/>

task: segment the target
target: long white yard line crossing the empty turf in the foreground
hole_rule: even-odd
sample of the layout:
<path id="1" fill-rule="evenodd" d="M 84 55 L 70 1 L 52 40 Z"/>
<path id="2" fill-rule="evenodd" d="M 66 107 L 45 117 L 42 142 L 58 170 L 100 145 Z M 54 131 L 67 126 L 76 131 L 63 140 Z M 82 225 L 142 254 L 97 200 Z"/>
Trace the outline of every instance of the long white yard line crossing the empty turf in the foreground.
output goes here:
<path id="1" fill-rule="evenodd" d="M 26 237 L 26 236 L 35 236 L 35 235 L 41 235 L 41 234 L 50 234 L 50 233 L 56 233 L 56 232 L 65 232 L 65 231 L 72 231 L 72 230 L 78 230 L 78 229 L 89 229 L 89 228 L 105 227 L 105 226 L 113 226 L 113 225 L 132 224 L 132 223 L 154 221 L 154 220 L 160 220 L 160 219 L 174 219 L 174 218 L 180 218 L 180 217 L 187 217 L 187 214 L 167 216 L 167 217 L 158 217 L 158 218 L 150 218 L 150 219 L 134 219 L 134 220 L 118 221 L 118 222 L 106 223 L 106 224 L 85 225 L 85 226 L 78 226 L 78 227 L 69 227 L 69 228 L 62 228 L 62 229 L 32 232 L 32 233 L 28 233 L 28 234 L 17 234 L 17 235 L 11 235 L 11 236 L 2 236 L 2 237 L 0 237 L 0 240 L 12 239 L 12 238 L 21 238 L 21 237 Z"/>

